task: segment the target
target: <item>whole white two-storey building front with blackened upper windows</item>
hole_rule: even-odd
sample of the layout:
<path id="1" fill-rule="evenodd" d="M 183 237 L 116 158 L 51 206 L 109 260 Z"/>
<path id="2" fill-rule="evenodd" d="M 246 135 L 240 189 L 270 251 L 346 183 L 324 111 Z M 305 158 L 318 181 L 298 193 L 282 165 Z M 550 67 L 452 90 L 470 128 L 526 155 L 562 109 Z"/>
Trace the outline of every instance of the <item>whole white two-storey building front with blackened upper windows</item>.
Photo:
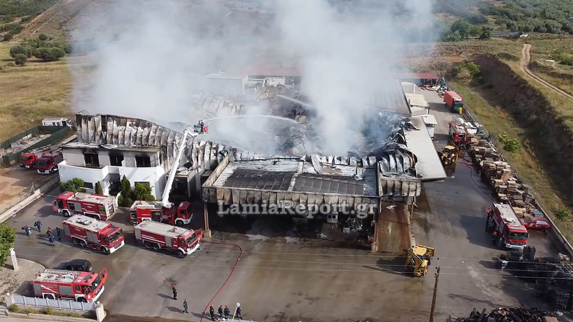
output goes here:
<path id="1" fill-rule="evenodd" d="M 84 180 L 84 188 L 95 192 L 100 182 L 105 195 L 119 193 L 121 178 L 131 186 L 149 184 L 151 194 L 161 199 L 166 184 L 166 166 L 161 147 L 68 143 L 62 146 L 64 160 L 58 164 L 60 180 Z"/>

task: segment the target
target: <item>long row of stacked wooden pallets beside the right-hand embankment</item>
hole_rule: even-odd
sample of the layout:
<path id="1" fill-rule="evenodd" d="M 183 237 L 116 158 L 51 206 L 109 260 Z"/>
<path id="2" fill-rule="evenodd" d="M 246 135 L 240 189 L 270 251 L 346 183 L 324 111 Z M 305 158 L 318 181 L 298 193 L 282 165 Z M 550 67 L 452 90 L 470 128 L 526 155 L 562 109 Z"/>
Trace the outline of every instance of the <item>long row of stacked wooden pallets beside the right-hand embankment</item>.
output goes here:
<path id="1" fill-rule="evenodd" d="M 482 175 L 489 180 L 497 197 L 509 203 L 519 217 L 541 215 L 529 186 L 517 178 L 501 152 L 486 139 L 484 133 L 470 139 L 467 150 L 473 162 L 480 166 Z"/>

